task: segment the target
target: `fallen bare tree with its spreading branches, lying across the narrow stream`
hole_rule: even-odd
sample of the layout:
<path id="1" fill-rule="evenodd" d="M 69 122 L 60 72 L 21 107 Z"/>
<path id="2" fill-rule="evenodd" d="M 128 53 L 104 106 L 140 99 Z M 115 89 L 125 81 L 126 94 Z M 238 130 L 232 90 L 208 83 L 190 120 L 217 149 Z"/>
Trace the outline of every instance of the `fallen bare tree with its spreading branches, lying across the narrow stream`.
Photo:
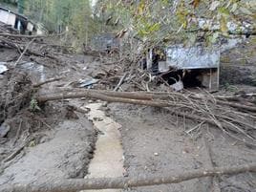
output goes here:
<path id="1" fill-rule="evenodd" d="M 163 107 L 173 115 L 186 117 L 200 123 L 198 126 L 188 130 L 187 133 L 196 131 L 204 123 L 208 123 L 218 127 L 234 139 L 256 145 L 256 106 L 250 102 L 251 97 L 254 96 L 213 96 L 208 93 L 195 94 L 189 92 L 112 92 L 73 89 L 47 96 L 37 96 L 37 100 L 42 103 L 49 100 L 80 97 L 91 97 L 108 102 Z"/>

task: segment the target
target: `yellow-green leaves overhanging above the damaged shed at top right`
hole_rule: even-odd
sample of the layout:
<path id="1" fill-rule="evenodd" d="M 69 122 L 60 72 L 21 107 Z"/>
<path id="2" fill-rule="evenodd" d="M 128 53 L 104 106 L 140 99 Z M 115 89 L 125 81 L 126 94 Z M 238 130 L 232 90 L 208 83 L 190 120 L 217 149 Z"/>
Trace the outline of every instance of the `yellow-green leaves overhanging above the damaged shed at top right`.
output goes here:
<path id="1" fill-rule="evenodd" d="M 144 41 L 193 43 L 203 33 L 214 43 L 219 35 L 256 28 L 256 2 L 251 0 L 106 0 L 98 6 L 97 11 L 120 18 L 124 28 Z"/>

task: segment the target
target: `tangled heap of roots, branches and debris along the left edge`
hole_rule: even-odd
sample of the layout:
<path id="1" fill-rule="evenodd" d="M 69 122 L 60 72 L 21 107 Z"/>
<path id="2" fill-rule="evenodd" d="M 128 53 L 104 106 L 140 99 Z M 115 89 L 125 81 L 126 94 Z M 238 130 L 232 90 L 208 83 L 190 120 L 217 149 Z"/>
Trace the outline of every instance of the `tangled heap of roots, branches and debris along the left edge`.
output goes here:
<path id="1" fill-rule="evenodd" d="M 40 142 L 43 132 L 67 113 L 53 104 L 39 107 L 33 98 L 40 86 L 53 81 L 46 80 L 44 66 L 53 69 L 61 63 L 61 56 L 53 55 L 55 47 L 46 46 L 43 36 L 7 33 L 6 29 L 0 29 L 1 170 L 31 142 Z"/>

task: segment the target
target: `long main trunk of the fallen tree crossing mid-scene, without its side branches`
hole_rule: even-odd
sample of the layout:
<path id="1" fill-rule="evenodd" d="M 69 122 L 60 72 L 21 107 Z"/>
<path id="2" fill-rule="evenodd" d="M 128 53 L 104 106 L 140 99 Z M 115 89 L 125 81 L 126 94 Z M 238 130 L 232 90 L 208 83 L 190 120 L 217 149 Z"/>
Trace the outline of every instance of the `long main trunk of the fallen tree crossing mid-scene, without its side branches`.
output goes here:
<path id="1" fill-rule="evenodd" d="M 105 95 L 104 95 L 105 94 Z M 112 96 L 108 96 L 112 95 Z M 126 98 L 121 97 L 121 95 L 124 95 L 126 97 L 131 96 L 133 98 Z M 117 93 L 117 92 L 106 92 L 106 91 L 96 91 L 96 90 L 84 90 L 83 92 L 65 92 L 65 93 L 55 93 L 47 96 L 37 96 L 35 97 L 37 101 L 40 102 L 46 102 L 50 100 L 61 100 L 61 99 L 68 99 L 68 98 L 81 98 L 81 97 L 92 97 L 96 99 L 100 99 L 107 102 L 121 102 L 121 103 L 130 103 L 130 104 L 137 104 L 137 105 L 145 105 L 145 106 L 151 106 L 151 107 L 160 107 L 160 108 L 168 108 L 168 110 L 179 117 L 186 117 L 198 122 L 206 122 L 210 125 L 217 126 L 220 128 L 224 133 L 229 135 L 230 137 L 234 139 L 239 139 L 243 142 L 246 142 L 251 145 L 255 145 L 254 143 L 246 140 L 246 139 L 240 139 L 237 136 L 235 136 L 236 133 L 240 133 L 241 135 L 245 136 L 245 138 L 254 140 L 253 137 L 248 135 L 245 131 L 245 128 L 239 127 L 233 122 L 228 121 L 228 119 L 225 119 L 224 116 L 218 116 L 212 114 L 210 111 L 205 111 L 205 109 L 202 111 L 199 110 L 198 113 L 193 113 L 194 111 L 197 112 L 197 109 L 194 109 L 193 106 L 186 102 L 176 102 L 176 101 L 166 101 L 166 100 L 151 100 L 151 99 L 137 99 L 137 97 L 147 97 L 152 98 L 152 95 L 141 95 L 137 93 Z M 215 108 L 216 106 L 213 105 Z M 183 110 L 177 110 L 177 109 L 183 109 Z M 217 117 L 217 118 L 216 118 Z M 245 125 L 245 124 L 243 124 Z M 235 133 L 235 134 L 234 134 Z"/>

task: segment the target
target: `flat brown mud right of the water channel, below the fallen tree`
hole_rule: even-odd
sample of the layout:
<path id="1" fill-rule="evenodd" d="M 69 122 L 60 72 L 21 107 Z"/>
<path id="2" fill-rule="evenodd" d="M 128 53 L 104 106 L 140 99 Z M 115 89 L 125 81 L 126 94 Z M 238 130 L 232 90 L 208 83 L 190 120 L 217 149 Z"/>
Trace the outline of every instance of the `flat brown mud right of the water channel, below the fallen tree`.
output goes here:
<path id="1" fill-rule="evenodd" d="M 124 166 L 129 176 L 164 174 L 207 168 L 203 137 L 208 140 L 214 166 L 228 166 L 256 160 L 256 148 L 245 146 L 225 136 L 214 127 L 203 125 L 199 132 L 188 135 L 186 130 L 197 124 L 168 114 L 162 109 L 111 104 L 112 117 L 122 125 Z M 256 191 L 256 175 L 241 174 L 218 178 L 223 192 Z M 206 192 L 211 191 L 209 178 L 184 181 L 179 184 L 134 188 L 138 192 Z"/>

